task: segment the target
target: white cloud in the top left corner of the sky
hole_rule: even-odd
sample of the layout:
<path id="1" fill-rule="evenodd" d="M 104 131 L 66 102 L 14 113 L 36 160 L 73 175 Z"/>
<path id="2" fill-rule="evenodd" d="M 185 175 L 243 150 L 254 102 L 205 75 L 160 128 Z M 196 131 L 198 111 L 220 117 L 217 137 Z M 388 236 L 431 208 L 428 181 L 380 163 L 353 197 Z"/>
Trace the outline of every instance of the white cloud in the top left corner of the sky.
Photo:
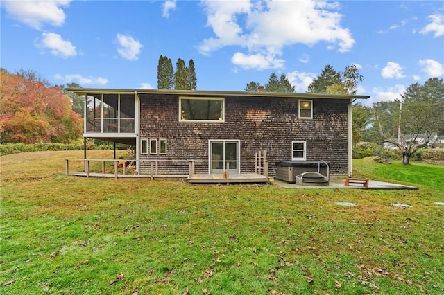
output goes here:
<path id="1" fill-rule="evenodd" d="M 10 17 L 40 30 L 45 23 L 62 26 L 65 12 L 61 7 L 69 6 L 70 2 L 71 0 L 2 1 L 1 5 Z"/>

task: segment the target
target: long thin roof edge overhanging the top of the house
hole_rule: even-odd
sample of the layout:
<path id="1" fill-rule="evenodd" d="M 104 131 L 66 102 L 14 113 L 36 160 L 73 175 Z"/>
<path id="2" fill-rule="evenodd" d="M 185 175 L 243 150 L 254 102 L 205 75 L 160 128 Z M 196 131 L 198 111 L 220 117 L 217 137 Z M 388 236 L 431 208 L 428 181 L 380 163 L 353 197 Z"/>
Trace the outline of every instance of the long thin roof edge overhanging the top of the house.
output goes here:
<path id="1" fill-rule="evenodd" d="M 67 88 L 77 95 L 87 93 L 137 93 L 162 94 L 178 96 L 246 96 L 274 98 L 327 98 L 327 99 L 367 99 L 370 96 L 348 94 L 318 94 L 318 93 L 282 93 L 282 92 L 249 92 L 249 91 L 207 91 L 207 90 L 169 90 L 169 89 L 101 89 L 101 88 Z"/>

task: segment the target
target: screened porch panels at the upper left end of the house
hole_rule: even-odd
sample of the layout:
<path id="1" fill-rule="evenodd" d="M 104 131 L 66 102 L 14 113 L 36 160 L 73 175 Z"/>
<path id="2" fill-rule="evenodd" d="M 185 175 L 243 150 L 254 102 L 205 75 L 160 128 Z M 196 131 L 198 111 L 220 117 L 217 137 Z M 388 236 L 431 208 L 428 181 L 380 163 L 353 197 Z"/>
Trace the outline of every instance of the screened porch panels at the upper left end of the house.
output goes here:
<path id="1" fill-rule="evenodd" d="M 86 95 L 86 133 L 134 133 L 134 94 Z"/>

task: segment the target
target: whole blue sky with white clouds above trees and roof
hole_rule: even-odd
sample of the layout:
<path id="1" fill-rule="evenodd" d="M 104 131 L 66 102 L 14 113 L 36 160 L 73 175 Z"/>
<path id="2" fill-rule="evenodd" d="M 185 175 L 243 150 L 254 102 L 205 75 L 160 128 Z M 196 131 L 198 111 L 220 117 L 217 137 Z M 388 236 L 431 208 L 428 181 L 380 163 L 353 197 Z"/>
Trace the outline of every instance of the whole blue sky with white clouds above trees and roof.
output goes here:
<path id="1" fill-rule="evenodd" d="M 1 1 L 1 67 L 53 84 L 157 88 L 167 55 L 198 90 L 244 91 L 284 73 L 296 92 L 355 64 L 366 104 L 444 78 L 444 1 Z"/>

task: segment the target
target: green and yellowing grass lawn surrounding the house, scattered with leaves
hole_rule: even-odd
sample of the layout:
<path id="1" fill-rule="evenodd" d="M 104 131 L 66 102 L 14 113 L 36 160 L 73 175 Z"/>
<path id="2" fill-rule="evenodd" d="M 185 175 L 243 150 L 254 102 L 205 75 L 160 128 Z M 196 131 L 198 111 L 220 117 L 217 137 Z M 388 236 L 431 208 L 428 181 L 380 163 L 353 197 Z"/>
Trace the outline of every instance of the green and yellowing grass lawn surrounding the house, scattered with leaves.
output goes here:
<path id="1" fill-rule="evenodd" d="M 0 294 L 444 294 L 444 166 L 355 162 L 420 190 L 284 189 L 64 175 L 82 155 L 0 158 Z"/>

